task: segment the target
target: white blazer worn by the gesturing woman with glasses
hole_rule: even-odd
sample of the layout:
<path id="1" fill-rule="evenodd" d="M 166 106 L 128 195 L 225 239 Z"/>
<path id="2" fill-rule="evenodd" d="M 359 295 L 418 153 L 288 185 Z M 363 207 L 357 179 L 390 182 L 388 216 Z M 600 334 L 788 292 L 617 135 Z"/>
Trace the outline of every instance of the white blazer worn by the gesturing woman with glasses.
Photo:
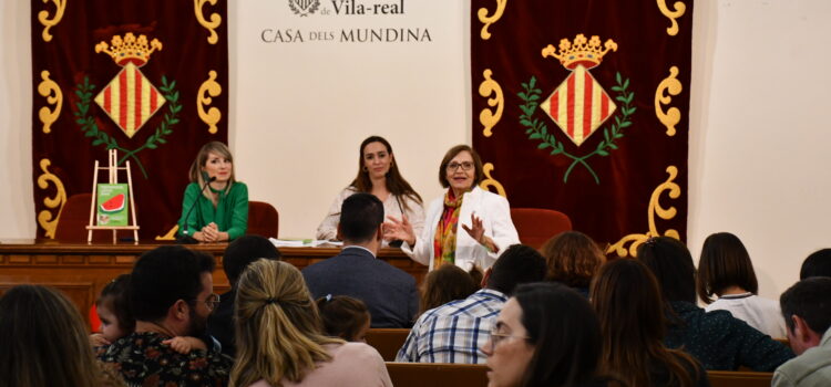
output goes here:
<path id="1" fill-rule="evenodd" d="M 401 245 L 407 255 L 421 264 L 430 265 L 433 270 L 433 240 L 435 229 L 439 227 L 439 220 L 444 211 L 444 196 L 430 202 L 427 216 L 424 217 L 424 229 L 421 236 L 416 238 L 416 245 L 411 247 L 407 242 Z M 484 234 L 490 237 L 499 248 L 500 253 L 488 251 L 482 244 L 471 238 L 462 224 L 471 227 L 471 213 L 482 219 Z M 470 270 L 475 263 L 482 269 L 488 269 L 496 262 L 501 254 L 511 244 L 520 243 L 520 236 L 511 220 L 511 207 L 507 199 L 483 190 L 479 187 L 465 192 L 462 199 L 462 209 L 459 213 L 459 229 L 455 234 L 455 265 Z"/>

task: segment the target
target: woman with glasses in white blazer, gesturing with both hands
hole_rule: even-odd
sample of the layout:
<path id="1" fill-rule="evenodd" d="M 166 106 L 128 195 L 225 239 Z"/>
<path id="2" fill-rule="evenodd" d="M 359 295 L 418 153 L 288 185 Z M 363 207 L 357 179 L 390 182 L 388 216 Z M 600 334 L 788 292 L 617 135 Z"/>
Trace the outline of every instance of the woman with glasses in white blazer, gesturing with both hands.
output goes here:
<path id="1" fill-rule="evenodd" d="M 384 236 L 404 241 L 401 250 L 430 270 L 444 263 L 465 271 L 492 266 L 520 237 L 507 200 L 479 188 L 483 178 L 482 160 L 470 146 L 450 148 L 439 166 L 439 182 L 448 191 L 428 207 L 424 230 L 418 233 L 406 217 L 388 217 Z"/>

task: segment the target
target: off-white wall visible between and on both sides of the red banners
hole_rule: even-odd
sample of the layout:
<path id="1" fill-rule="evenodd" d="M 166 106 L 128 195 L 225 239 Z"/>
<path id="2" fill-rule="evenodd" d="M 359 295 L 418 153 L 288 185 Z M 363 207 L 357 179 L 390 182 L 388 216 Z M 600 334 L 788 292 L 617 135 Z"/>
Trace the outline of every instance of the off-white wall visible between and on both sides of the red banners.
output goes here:
<path id="1" fill-rule="evenodd" d="M 286 3 L 229 2 L 230 134 L 252 199 L 275 203 L 280 233 L 308 237 L 356 172 L 370 134 L 392 143 L 427 200 L 435 164 L 470 142 L 466 1 L 409 1 L 402 24 L 430 44 L 259 42 L 263 28 L 310 28 Z M 440 9 L 440 11 L 435 11 Z M 697 1 L 689 149 L 689 244 L 732 231 L 755 260 L 761 294 L 777 297 L 811 251 L 831 245 L 825 113 L 831 2 Z M 0 238 L 33 237 L 29 2 L 0 0 Z M 398 23 L 398 20 L 396 20 Z M 382 18 L 326 20 L 331 29 Z M 290 57 L 291 60 L 284 60 Z M 419 74 L 430 74 L 421 76 Z M 312 91 L 315 97 L 300 97 Z M 416 97 L 429 95 L 429 98 Z"/>

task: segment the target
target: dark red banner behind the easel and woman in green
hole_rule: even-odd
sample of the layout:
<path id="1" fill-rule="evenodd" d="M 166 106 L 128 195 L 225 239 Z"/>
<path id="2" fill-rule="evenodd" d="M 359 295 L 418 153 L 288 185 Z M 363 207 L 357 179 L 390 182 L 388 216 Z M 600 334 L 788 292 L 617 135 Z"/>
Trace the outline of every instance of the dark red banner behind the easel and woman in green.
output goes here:
<path id="1" fill-rule="evenodd" d="M 175 226 L 198 148 L 209 140 L 227 143 L 226 7 L 223 0 L 32 0 L 32 178 L 39 238 L 54 236 L 65 197 L 92 191 L 93 164 L 106 165 L 107 148 L 119 149 L 120 158 L 134 153 L 127 159 L 141 238 L 163 236 Z M 132 138 L 94 101 L 122 71 L 95 46 L 105 42 L 113 51 L 113 36 L 123 40 L 129 33 L 146 36 L 147 45 L 161 43 L 138 71 L 165 98 Z M 105 176 L 99 181 L 105 182 Z"/>

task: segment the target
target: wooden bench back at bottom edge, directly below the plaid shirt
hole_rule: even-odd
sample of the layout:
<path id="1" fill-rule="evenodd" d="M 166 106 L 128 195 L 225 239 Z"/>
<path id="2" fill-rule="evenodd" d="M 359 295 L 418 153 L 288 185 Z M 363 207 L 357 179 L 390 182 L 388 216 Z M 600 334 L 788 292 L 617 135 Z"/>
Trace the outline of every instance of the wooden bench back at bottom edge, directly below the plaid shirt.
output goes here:
<path id="1" fill-rule="evenodd" d="M 488 367 L 481 364 L 387 363 L 396 387 L 484 387 Z"/>

